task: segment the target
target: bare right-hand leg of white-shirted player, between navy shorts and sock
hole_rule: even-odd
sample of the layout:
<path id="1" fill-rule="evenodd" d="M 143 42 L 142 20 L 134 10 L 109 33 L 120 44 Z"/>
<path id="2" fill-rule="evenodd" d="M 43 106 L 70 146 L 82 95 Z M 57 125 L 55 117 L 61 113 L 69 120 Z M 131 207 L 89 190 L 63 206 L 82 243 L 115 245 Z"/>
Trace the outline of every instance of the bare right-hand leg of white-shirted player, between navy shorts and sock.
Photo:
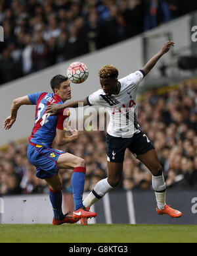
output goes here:
<path id="1" fill-rule="evenodd" d="M 137 158 L 148 168 L 148 170 L 150 170 L 153 176 L 162 175 L 162 166 L 160 165 L 155 149 L 140 154 Z"/>

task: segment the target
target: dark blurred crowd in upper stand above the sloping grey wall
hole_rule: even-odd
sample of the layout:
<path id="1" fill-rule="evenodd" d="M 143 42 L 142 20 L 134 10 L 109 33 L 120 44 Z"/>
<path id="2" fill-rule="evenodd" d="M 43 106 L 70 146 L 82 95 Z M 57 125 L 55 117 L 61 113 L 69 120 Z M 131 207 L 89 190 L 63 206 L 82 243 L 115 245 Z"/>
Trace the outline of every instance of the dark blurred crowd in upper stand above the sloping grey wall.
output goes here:
<path id="1" fill-rule="evenodd" d="M 0 84 L 196 9 L 196 0 L 1 0 Z"/>

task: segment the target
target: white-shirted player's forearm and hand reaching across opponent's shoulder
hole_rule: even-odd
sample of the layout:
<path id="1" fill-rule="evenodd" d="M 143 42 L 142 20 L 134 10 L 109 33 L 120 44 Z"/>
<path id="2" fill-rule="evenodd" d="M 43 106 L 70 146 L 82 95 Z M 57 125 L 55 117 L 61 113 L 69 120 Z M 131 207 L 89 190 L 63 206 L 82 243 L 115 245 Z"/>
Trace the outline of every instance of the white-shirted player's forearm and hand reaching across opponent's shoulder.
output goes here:
<path id="1" fill-rule="evenodd" d="M 56 115 L 58 111 L 63 110 L 64 108 L 78 108 L 79 104 L 82 106 L 87 106 L 87 99 L 85 98 L 84 100 L 76 100 L 73 102 L 66 103 L 64 104 L 50 104 L 47 106 L 47 113 L 51 113 L 51 115 Z"/>

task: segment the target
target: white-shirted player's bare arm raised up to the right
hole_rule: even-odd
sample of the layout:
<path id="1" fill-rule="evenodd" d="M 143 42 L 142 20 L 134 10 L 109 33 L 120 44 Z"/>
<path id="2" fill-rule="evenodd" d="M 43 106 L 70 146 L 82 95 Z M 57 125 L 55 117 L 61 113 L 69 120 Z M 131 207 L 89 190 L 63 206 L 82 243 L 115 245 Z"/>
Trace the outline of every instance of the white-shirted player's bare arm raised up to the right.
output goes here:
<path id="1" fill-rule="evenodd" d="M 146 65 L 142 68 L 142 70 L 144 71 L 144 74 L 147 75 L 151 71 L 151 69 L 154 67 L 154 65 L 156 65 L 160 57 L 162 57 L 165 53 L 167 53 L 167 51 L 169 51 L 171 46 L 174 46 L 174 45 L 175 43 L 173 41 L 165 42 L 162 49 L 156 55 L 154 55 L 154 57 L 152 57 L 152 59 L 150 59 L 150 61 L 148 61 L 148 63 L 146 63 Z"/>

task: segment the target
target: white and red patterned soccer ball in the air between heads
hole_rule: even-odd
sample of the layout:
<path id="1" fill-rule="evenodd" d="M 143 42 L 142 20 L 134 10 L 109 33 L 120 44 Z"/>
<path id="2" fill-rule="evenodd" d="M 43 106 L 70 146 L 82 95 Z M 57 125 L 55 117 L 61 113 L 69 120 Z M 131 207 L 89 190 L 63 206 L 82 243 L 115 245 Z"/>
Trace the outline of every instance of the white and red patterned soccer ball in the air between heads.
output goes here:
<path id="1" fill-rule="evenodd" d="M 89 75 L 89 70 L 86 65 L 82 62 L 71 63 L 67 69 L 67 77 L 71 82 L 80 84 L 84 82 Z"/>

